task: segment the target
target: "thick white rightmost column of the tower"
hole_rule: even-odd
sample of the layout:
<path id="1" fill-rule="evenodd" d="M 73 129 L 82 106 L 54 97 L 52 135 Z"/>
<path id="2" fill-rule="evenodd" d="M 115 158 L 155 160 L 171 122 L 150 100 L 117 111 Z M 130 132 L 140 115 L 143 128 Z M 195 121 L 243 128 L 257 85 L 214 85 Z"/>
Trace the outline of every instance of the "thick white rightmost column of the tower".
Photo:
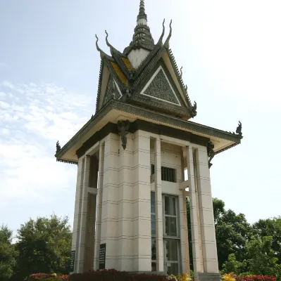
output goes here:
<path id="1" fill-rule="evenodd" d="M 204 273 L 219 273 L 210 170 L 207 151 L 204 147 L 196 150 L 196 171 Z"/>

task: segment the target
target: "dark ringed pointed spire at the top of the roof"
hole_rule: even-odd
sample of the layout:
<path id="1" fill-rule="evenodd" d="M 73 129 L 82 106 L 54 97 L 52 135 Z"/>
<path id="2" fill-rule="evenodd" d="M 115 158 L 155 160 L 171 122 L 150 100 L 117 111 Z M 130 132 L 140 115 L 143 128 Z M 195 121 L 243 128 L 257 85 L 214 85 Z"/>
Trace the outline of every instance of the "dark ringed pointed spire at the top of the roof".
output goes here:
<path id="1" fill-rule="evenodd" d="M 147 15 L 144 8 L 144 0 L 139 1 L 139 14 L 137 15 L 137 26 L 132 37 L 130 46 L 125 48 L 124 53 L 127 55 L 130 51 L 137 48 L 144 48 L 148 51 L 154 49 L 154 39 L 152 38 L 150 28 L 147 25 Z"/>

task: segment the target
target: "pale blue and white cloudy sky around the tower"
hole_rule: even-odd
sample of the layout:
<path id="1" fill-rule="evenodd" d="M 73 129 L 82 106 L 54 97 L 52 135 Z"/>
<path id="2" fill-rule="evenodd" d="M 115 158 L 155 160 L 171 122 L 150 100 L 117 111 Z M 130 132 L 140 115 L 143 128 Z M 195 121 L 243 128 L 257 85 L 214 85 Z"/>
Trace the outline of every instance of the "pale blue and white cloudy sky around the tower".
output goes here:
<path id="1" fill-rule="evenodd" d="M 213 197 L 250 223 L 281 214 L 280 0 L 146 0 L 154 41 L 173 19 L 173 50 L 194 122 L 235 131 L 242 144 L 213 159 Z M 77 166 L 56 162 L 95 112 L 104 30 L 130 44 L 138 0 L 0 0 L 0 225 L 37 216 L 73 224 Z M 168 32 L 166 32 L 166 36 Z"/>

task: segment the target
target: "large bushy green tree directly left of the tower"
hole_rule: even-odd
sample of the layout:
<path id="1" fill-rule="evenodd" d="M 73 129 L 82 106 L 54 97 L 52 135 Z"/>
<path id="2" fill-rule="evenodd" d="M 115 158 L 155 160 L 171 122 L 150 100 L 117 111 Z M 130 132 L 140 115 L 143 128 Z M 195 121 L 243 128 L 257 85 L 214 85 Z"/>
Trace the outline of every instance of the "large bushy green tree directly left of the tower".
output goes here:
<path id="1" fill-rule="evenodd" d="M 20 226 L 17 237 L 14 280 L 25 280 L 32 273 L 68 274 L 72 233 L 67 217 L 30 219 Z"/>

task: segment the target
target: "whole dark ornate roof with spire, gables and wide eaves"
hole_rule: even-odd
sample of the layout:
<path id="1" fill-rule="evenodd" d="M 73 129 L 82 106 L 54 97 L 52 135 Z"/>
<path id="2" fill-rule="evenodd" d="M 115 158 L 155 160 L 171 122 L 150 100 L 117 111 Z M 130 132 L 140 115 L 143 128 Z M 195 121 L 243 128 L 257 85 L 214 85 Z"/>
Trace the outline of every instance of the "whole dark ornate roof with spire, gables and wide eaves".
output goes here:
<path id="1" fill-rule="evenodd" d="M 165 20 L 161 37 L 154 43 L 144 0 L 140 0 L 135 33 L 123 53 L 111 45 L 107 32 L 106 44 L 111 55 L 99 48 L 96 37 L 96 49 L 101 55 L 96 114 L 63 148 L 57 143 L 57 161 L 77 164 L 78 158 L 108 132 L 118 133 L 116 123 L 120 115 L 132 120 L 130 133 L 144 129 L 206 146 L 209 166 L 214 155 L 241 142 L 240 122 L 236 133 L 231 133 L 189 121 L 196 116 L 197 105 L 189 99 L 182 68 L 177 67 L 169 46 L 172 21 L 165 41 L 164 36 Z M 141 63 L 132 63 L 134 55 L 139 55 Z"/>

